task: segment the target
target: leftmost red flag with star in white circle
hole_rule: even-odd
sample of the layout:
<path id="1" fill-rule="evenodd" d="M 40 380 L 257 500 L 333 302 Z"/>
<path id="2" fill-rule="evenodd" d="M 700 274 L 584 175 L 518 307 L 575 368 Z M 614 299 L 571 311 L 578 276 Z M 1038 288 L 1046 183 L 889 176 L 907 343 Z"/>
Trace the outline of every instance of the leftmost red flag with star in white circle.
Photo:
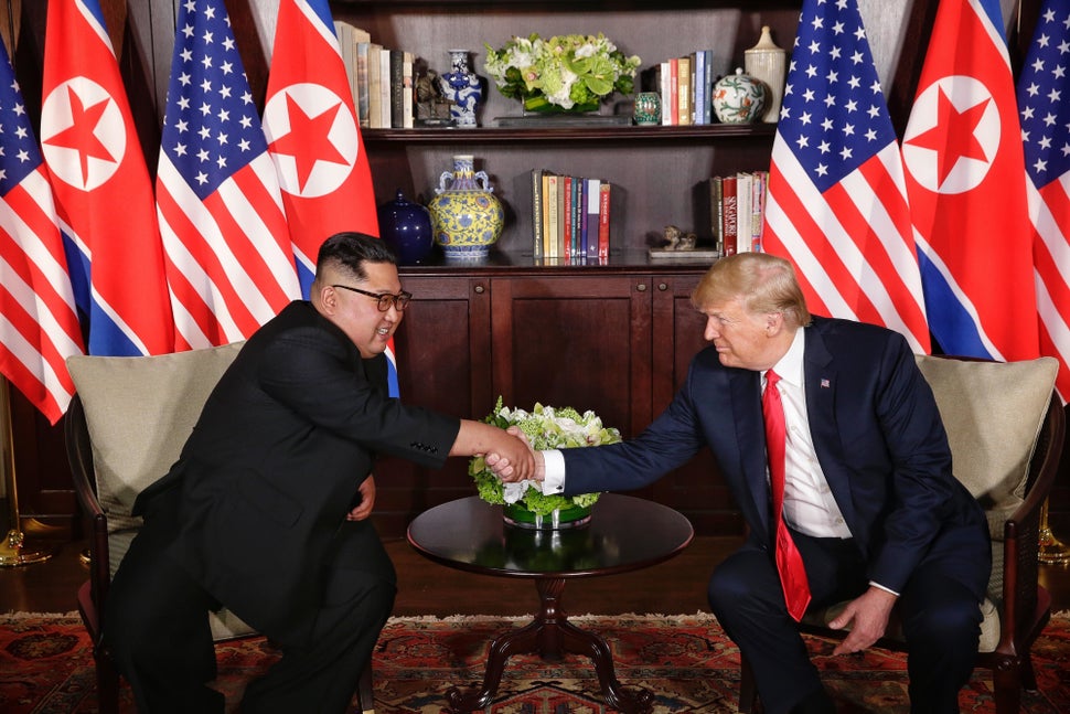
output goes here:
<path id="1" fill-rule="evenodd" d="M 97 0 L 49 2 L 41 150 L 90 354 L 163 354 L 174 328 L 152 182 Z"/>

